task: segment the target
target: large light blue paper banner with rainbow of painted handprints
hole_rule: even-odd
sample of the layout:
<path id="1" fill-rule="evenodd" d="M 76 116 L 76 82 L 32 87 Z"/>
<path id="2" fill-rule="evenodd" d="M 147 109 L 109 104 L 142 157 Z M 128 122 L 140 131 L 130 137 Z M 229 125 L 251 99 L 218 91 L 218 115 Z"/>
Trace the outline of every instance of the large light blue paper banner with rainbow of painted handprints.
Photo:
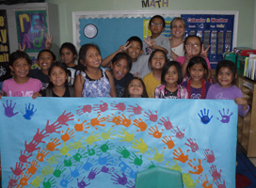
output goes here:
<path id="1" fill-rule="evenodd" d="M 235 186 L 233 101 L 0 102 L 3 187 L 132 188 L 156 165 L 182 172 L 186 188 Z"/>

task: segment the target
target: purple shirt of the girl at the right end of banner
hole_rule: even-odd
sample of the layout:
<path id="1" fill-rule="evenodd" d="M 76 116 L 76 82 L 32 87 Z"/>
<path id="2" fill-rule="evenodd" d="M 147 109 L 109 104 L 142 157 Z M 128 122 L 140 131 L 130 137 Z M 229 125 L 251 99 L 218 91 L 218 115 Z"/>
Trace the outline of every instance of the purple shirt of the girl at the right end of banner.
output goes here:
<path id="1" fill-rule="evenodd" d="M 206 99 L 213 100 L 234 100 L 235 98 L 244 98 L 242 91 L 237 86 L 223 88 L 219 84 L 210 86 Z M 249 106 L 248 106 L 249 109 Z M 243 105 L 238 105 L 238 114 L 245 117 L 248 114 L 248 109 L 244 110 Z"/>

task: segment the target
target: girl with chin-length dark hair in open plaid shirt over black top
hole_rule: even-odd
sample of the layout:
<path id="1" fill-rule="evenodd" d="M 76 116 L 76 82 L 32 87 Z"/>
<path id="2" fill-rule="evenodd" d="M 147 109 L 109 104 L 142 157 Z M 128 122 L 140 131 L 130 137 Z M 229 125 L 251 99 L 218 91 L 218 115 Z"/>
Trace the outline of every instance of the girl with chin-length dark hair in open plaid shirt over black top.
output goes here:
<path id="1" fill-rule="evenodd" d="M 161 74 L 162 85 L 154 90 L 154 98 L 187 99 L 188 93 L 183 82 L 182 67 L 177 61 L 169 61 L 163 67 Z"/>

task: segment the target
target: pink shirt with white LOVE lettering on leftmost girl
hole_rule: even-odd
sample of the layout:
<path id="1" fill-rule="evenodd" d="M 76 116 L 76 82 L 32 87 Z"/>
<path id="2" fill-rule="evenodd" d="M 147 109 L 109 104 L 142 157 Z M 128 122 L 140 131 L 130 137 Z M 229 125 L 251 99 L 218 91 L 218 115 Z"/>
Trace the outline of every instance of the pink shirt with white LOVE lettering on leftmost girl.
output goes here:
<path id="1" fill-rule="evenodd" d="M 33 93 L 39 92 L 41 82 L 35 78 L 29 78 L 24 84 L 17 84 L 13 78 L 5 80 L 3 83 L 3 91 L 8 97 L 32 97 Z"/>

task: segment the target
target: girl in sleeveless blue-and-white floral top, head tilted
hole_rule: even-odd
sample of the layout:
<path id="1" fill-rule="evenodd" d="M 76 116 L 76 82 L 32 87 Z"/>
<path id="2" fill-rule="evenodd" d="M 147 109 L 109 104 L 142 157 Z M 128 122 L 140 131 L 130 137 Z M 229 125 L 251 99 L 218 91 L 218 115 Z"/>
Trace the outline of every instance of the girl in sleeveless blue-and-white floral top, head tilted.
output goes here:
<path id="1" fill-rule="evenodd" d="M 116 97 L 110 71 L 101 69 L 102 55 L 98 46 L 84 44 L 79 51 L 79 65 L 74 81 L 75 97 Z"/>

